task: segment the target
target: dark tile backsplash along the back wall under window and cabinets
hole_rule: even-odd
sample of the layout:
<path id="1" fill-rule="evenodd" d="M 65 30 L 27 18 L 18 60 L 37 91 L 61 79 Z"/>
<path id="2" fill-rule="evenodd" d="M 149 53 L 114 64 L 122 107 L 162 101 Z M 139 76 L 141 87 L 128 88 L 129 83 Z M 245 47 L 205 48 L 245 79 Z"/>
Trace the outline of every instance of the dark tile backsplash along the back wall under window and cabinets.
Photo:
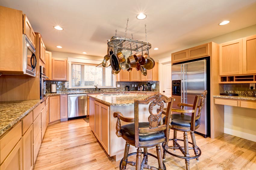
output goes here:
<path id="1" fill-rule="evenodd" d="M 51 92 L 51 84 L 56 84 L 56 91 L 61 92 L 61 91 L 94 91 L 95 88 L 77 88 L 77 89 L 68 89 L 65 88 L 65 82 L 68 81 L 46 81 L 46 90 L 48 92 Z M 151 91 L 159 91 L 159 81 L 148 81 L 151 84 Z M 117 88 L 102 88 L 101 91 L 123 91 L 125 90 L 125 86 L 129 85 L 130 90 L 138 90 L 138 86 L 140 85 L 146 85 L 148 82 L 116 82 L 116 87 L 117 85 L 120 85 L 120 87 Z M 134 85 L 134 87 L 133 87 Z M 136 87 L 135 87 L 136 85 Z"/>

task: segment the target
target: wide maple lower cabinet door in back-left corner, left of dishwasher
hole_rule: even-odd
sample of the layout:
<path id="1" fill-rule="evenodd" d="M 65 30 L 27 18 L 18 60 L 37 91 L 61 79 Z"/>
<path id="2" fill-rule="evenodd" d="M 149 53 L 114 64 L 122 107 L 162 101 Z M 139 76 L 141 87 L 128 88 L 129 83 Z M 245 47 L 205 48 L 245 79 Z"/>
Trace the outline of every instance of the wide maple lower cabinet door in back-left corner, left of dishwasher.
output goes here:
<path id="1" fill-rule="evenodd" d="M 49 123 L 60 120 L 60 95 L 49 97 Z"/>

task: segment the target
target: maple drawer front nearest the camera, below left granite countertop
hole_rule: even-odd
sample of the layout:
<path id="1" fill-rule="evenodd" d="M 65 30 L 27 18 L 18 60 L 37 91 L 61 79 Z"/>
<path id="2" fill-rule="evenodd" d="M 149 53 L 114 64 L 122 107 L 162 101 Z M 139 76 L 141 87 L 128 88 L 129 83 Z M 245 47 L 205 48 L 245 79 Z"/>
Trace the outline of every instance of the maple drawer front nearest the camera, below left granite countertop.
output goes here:
<path id="1" fill-rule="evenodd" d="M 0 137 L 0 164 L 19 142 L 21 134 L 21 122 L 18 122 L 11 130 Z"/>

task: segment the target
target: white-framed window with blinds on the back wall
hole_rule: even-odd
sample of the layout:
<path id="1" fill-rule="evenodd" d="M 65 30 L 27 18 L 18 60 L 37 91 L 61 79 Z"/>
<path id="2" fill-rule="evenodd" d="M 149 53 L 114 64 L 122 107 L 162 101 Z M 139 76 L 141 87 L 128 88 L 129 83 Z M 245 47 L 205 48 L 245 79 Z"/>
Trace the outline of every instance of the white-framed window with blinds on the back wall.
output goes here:
<path id="1" fill-rule="evenodd" d="M 111 68 L 96 67 L 95 65 L 71 63 L 71 87 L 95 88 L 114 87 L 114 76 Z"/>

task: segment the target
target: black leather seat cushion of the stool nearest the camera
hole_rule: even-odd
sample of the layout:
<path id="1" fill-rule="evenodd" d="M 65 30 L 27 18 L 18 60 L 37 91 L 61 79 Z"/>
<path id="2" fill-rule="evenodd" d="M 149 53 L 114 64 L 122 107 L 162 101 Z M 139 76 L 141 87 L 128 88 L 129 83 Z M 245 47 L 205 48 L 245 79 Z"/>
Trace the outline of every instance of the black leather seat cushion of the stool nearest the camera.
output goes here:
<path id="1" fill-rule="evenodd" d="M 139 127 L 149 127 L 149 122 L 139 122 Z M 134 130 L 134 123 L 126 124 L 121 127 L 121 133 L 126 138 L 129 138 L 131 140 L 135 140 L 135 130 Z M 164 138 L 164 131 L 158 131 L 158 132 L 150 132 L 150 133 L 139 133 L 139 141 L 145 142 L 145 141 L 152 141 L 156 139 L 162 139 Z"/>

